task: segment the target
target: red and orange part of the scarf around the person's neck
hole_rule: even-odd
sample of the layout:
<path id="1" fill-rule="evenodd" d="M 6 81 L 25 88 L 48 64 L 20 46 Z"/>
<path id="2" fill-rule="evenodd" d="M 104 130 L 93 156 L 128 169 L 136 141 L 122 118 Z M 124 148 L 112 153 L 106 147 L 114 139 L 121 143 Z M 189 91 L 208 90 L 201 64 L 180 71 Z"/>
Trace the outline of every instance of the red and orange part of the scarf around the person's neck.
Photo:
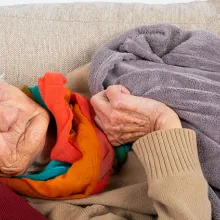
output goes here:
<path id="1" fill-rule="evenodd" d="M 57 125 L 51 160 L 70 163 L 71 167 L 65 174 L 47 181 L 0 178 L 0 182 L 18 193 L 35 198 L 74 199 L 99 193 L 108 183 L 113 148 L 96 127 L 89 101 L 68 90 L 65 83 L 61 74 L 46 73 L 38 80 L 38 87 Z"/>

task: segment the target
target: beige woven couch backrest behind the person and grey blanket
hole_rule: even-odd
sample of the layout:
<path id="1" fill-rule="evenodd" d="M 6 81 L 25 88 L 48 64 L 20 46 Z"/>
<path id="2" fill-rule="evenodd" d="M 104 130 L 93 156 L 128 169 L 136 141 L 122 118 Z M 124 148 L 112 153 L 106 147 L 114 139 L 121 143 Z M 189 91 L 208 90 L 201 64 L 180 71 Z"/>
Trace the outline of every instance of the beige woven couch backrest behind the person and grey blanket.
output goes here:
<path id="1" fill-rule="evenodd" d="M 32 85 L 46 71 L 66 75 L 121 31 L 169 22 L 220 34 L 219 0 L 173 5 L 72 3 L 0 7 L 0 72 Z"/>

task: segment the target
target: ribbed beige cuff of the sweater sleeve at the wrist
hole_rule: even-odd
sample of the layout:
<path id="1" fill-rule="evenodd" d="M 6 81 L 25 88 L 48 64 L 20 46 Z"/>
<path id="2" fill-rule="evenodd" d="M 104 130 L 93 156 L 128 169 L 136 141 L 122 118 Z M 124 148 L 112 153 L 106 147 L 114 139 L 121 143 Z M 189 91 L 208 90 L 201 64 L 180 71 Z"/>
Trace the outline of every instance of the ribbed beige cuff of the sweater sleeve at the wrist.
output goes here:
<path id="1" fill-rule="evenodd" d="M 189 129 L 161 130 L 133 144 L 148 179 L 173 176 L 179 172 L 200 171 L 196 134 Z"/>

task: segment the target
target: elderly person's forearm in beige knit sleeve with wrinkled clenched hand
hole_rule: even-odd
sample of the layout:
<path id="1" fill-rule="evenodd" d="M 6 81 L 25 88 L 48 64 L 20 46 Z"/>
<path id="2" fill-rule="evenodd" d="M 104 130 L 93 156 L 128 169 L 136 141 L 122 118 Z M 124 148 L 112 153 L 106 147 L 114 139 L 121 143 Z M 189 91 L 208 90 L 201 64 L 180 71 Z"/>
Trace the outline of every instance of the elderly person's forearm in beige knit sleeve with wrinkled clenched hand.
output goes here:
<path id="1" fill-rule="evenodd" d="M 132 96 L 119 85 L 93 96 L 91 104 L 97 124 L 114 146 L 135 141 L 133 150 L 145 168 L 159 219 L 211 219 L 195 132 L 182 129 L 172 109 Z"/>

